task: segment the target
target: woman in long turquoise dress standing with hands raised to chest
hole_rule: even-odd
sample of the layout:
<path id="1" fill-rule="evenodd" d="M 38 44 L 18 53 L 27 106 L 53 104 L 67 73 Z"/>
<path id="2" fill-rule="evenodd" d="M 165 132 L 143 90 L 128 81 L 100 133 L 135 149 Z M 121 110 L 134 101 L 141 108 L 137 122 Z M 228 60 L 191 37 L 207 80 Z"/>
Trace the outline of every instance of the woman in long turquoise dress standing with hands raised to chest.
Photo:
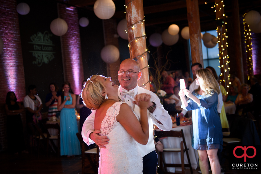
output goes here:
<path id="1" fill-rule="evenodd" d="M 76 97 L 70 87 L 69 82 L 64 82 L 63 92 L 58 96 L 58 111 L 60 113 L 60 138 L 61 138 L 61 155 L 67 157 L 80 155 L 80 142 L 76 136 L 78 132 L 77 121 L 75 116 Z"/>

